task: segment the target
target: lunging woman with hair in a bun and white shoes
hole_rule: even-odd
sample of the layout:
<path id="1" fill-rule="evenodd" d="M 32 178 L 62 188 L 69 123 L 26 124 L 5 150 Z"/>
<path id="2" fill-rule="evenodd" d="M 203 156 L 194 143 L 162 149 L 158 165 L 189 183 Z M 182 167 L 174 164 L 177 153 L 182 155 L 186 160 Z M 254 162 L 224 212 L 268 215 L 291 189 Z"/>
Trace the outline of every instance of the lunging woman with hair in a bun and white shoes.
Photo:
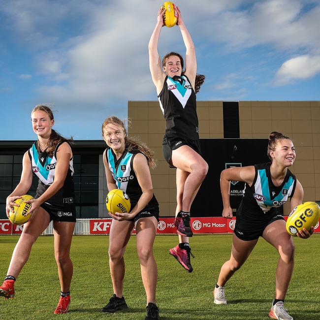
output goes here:
<path id="1" fill-rule="evenodd" d="M 271 132 L 268 144 L 271 163 L 225 169 L 220 185 L 224 203 L 223 217 L 232 218 L 229 202 L 230 181 L 246 183 L 244 197 L 237 210 L 232 238 L 231 257 L 221 268 L 214 289 L 214 302 L 226 304 L 224 285 L 247 260 L 258 238 L 262 237 L 279 252 L 276 270 L 276 292 L 269 317 L 292 320 L 284 308 L 284 301 L 293 271 L 294 244 L 286 230 L 280 207 L 290 199 L 291 210 L 302 203 L 303 189 L 290 172 L 295 160 L 292 140 L 278 132 Z M 300 238 L 308 238 L 311 231 L 299 231 Z"/>

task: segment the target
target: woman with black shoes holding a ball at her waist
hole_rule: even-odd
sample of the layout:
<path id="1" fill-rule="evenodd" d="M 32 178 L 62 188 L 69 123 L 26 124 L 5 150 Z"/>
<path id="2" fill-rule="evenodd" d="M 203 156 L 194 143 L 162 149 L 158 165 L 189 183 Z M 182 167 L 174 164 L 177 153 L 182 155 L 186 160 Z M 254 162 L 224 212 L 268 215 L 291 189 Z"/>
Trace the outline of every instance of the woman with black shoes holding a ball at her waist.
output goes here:
<path id="1" fill-rule="evenodd" d="M 126 192 L 130 198 L 131 210 L 129 213 L 109 213 L 114 219 L 109 235 L 109 265 L 114 294 L 101 311 L 128 309 L 122 295 L 125 277 L 124 254 L 135 226 L 141 277 L 147 295 L 145 320 L 157 320 L 158 269 L 153 256 L 153 243 L 159 221 L 159 204 L 153 194 L 149 168 L 156 164 L 151 150 L 128 138 L 124 123 L 117 117 L 104 120 L 102 136 L 108 146 L 103 153 L 108 190 L 121 189 Z"/>

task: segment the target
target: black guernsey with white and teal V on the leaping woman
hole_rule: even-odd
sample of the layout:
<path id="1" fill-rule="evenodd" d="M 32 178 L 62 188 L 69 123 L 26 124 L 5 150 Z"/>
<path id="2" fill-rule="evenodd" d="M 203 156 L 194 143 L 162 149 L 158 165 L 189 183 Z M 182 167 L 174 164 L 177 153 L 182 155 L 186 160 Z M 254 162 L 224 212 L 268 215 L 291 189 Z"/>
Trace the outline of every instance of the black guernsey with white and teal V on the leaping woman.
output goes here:
<path id="1" fill-rule="evenodd" d="M 158 99 L 166 121 L 166 137 L 199 139 L 196 97 L 186 75 L 166 76 Z"/>

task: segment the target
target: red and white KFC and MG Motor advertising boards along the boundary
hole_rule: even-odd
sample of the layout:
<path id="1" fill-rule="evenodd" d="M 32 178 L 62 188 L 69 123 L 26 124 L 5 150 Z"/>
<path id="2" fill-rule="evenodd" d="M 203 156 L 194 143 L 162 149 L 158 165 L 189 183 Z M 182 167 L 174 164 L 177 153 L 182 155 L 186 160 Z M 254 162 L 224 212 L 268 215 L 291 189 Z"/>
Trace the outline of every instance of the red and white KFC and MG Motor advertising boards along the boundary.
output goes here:
<path id="1" fill-rule="evenodd" d="M 285 216 L 285 220 L 287 220 Z M 105 219 L 78 219 L 75 227 L 75 235 L 109 234 L 111 218 Z M 194 234 L 208 233 L 232 233 L 235 226 L 235 218 L 222 217 L 191 218 L 192 231 Z M 0 235 L 21 234 L 23 225 L 14 225 L 9 220 L 0 220 Z M 48 227 L 43 235 L 52 234 L 52 227 Z M 320 233 L 320 223 L 316 225 L 315 233 Z M 135 229 L 132 232 L 135 234 Z M 174 218 L 160 218 L 157 234 L 176 234 Z"/>

